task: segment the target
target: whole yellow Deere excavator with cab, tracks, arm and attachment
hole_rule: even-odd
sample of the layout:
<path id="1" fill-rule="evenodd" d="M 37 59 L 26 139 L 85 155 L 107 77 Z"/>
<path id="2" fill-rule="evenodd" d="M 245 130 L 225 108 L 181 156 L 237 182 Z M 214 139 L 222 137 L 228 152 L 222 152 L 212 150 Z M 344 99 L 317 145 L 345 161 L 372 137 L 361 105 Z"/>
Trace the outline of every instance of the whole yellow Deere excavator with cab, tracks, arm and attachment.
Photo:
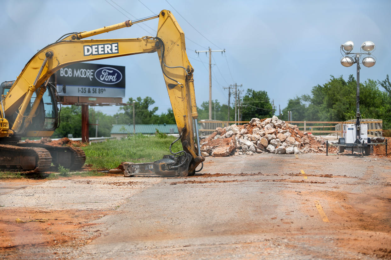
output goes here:
<path id="1" fill-rule="evenodd" d="M 159 18 L 156 37 L 85 39 L 154 18 Z M 185 35 L 167 10 L 89 32 L 63 35 L 38 51 L 15 81 L 3 82 L 0 86 L 0 169 L 44 172 L 52 164 L 81 168 L 85 154 L 79 148 L 20 142 L 22 137 L 50 137 L 59 126 L 58 94 L 49 82 L 50 76 L 66 65 L 77 62 L 152 52 L 157 52 L 159 56 L 178 126 L 179 138 L 176 141 L 181 141 L 183 150 L 174 153 L 170 146 L 171 154 L 159 161 L 127 163 L 124 175 L 151 172 L 163 176 L 194 175 L 197 166 L 204 161 L 199 149 L 194 69 L 187 58 Z"/>

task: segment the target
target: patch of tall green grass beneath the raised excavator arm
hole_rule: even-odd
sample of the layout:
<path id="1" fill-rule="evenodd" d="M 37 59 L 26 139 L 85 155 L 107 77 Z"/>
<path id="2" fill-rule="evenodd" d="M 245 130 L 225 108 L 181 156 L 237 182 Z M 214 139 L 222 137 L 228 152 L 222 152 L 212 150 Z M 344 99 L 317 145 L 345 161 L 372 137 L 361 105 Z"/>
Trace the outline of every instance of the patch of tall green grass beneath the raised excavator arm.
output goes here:
<path id="1" fill-rule="evenodd" d="M 108 140 L 102 143 L 91 143 L 81 147 L 86 153 L 86 164 L 93 169 L 113 169 L 122 162 L 146 163 L 163 158 L 170 154 L 169 147 L 176 138 L 168 136 L 130 136 L 124 140 Z M 182 150 L 181 141 L 177 141 L 173 152 Z"/>

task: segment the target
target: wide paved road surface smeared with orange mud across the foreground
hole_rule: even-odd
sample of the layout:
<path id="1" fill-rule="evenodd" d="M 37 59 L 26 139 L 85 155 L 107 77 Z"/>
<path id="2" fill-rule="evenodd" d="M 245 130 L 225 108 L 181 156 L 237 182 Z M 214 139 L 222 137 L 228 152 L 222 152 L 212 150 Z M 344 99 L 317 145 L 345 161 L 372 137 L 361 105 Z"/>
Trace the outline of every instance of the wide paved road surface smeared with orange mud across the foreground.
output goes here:
<path id="1" fill-rule="evenodd" d="M 389 259 L 387 157 L 208 157 L 202 175 L 0 182 L 15 259 Z M 16 223 L 16 219 L 20 219 Z"/>

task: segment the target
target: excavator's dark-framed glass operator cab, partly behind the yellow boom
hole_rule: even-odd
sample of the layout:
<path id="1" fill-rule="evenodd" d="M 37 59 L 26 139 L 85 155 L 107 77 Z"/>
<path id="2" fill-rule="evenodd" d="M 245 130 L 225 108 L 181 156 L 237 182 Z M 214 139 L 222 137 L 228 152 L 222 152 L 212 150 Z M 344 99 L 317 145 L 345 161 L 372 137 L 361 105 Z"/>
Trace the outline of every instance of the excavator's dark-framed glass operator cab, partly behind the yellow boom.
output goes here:
<path id="1" fill-rule="evenodd" d="M 5 81 L 0 85 L 0 93 L 3 95 L 3 98 L 11 89 L 14 82 L 15 81 Z M 38 90 L 32 94 L 30 103 L 26 108 L 24 116 L 29 115 L 32 105 L 36 99 L 37 92 Z M 53 132 L 58 127 L 59 109 L 56 94 L 56 89 L 51 84 L 49 84 L 45 94 L 41 99 L 41 102 L 39 103 L 31 124 L 27 127 L 27 129 L 21 131 L 18 135 L 26 137 L 47 136 L 47 132 Z M 13 122 L 17 115 L 18 113 L 14 113 L 14 118 L 10 121 Z M 26 120 L 26 118 L 24 120 Z M 12 127 L 12 125 L 10 127 Z"/>

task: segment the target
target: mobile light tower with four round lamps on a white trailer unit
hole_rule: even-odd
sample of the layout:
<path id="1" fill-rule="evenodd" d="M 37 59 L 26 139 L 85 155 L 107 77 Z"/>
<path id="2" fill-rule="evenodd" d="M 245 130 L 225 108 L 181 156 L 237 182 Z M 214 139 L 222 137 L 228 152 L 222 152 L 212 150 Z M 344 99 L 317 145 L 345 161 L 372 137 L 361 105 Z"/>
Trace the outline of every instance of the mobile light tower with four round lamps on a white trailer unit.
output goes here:
<path id="1" fill-rule="evenodd" d="M 356 122 L 355 124 L 343 124 L 343 137 L 339 138 L 339 152 L 343 152 L 345 147 L 357 148 L 364 151 L 366 155 L 369 155 L 371 139 L 368 138 L 368 126 L 366 124 L 360 124 L 360 59 L 362 58 L 362 65 L 365 67 L 372 67 L 375 65 L 376 60 L 372 56 L 372 52 L 375 50 L 375 44 L 371 41 L 366 41 L 361 44 L 361 52 L 352 53 L 353 42 L 347 41 L 341 45 L 341 54 L 344 56 L 341 58 L 341 64 L 345 67 L 350 67 L 353 64 L 357 64 L 357 90 L 356 90 Z M 342 53 L 344 52 L 344 54 Z"/>

